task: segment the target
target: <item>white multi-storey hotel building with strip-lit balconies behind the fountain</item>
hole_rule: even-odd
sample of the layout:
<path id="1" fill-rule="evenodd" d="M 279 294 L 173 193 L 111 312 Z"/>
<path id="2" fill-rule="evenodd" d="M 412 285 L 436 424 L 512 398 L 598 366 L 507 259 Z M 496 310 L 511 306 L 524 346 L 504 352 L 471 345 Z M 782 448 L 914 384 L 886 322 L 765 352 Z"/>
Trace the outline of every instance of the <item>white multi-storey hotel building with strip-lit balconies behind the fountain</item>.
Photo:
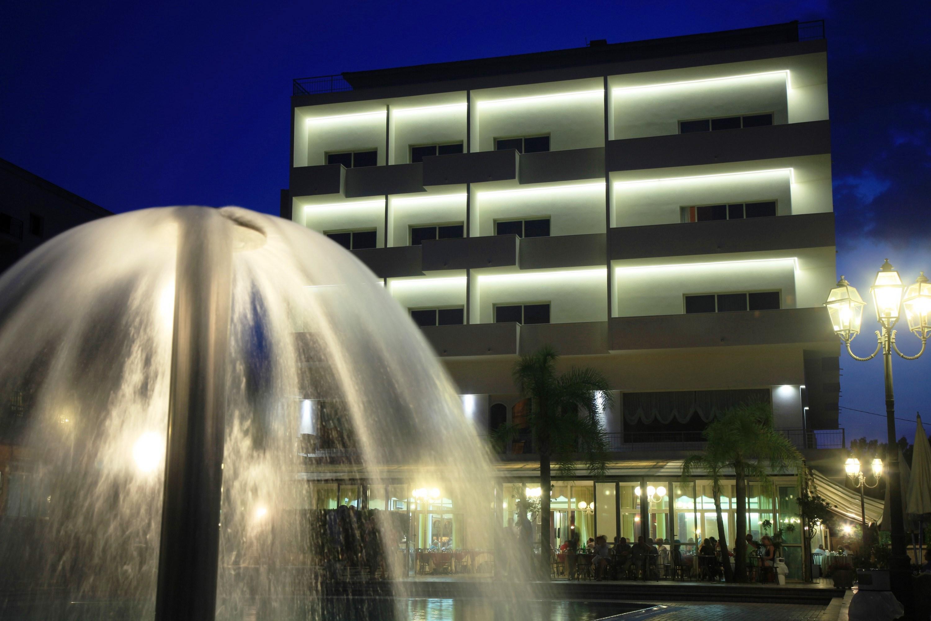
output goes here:
<path id="1" fill-rule="evenodd" d="M 609 540 L 648 522 L 685 542 L 707 532 L 709 498 L 679 466 L 715 412 L 763 399 L 806 454 L 843 446 L 822 307 L 826 49 L 823 23 L 790 22 L 295 80 L 281 214 L 384 278 L 479 434 L 519 419 L 519 354 L 552 344 L 563 367 L 600 370 L 609 478 L 554 498 L 569 513 L 597 498 L 588 530 Z M 535 467 L 515 441 L 505 499 Z M 381 494 L 333 485 L 337 503 L 345 485 Z M 751 498 L 757 519 L 795 518 L 793 485 Z M 641 510 L 637 486 L 667 497 Z"/>

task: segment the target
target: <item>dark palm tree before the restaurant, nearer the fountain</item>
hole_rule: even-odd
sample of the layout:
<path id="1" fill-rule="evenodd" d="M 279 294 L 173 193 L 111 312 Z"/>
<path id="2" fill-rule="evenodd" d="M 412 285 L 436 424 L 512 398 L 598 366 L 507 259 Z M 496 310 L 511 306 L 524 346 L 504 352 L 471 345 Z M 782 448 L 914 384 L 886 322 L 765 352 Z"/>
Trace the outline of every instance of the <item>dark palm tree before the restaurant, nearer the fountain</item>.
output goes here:
<path id="1" fill-rule="evenodd" d="M 600 372 L 573 368 L 557 374 L 557 358 L 556 350 L 544 345 L 521 356 L 513 371 L 520 395 L 531 400 L 527 425 L 540 455 L 541 575 L 549 574 L 552 463 L 556 462 L 560 474 L 571 476 L 578 453 L 582 452 L 588 473 L 596 479 L 604 477 L 608 441 L 598 414 L 614 403 L 608 381 Z M 515 425 L 506 425 L 495 433 L 495 438 L 503 442 L 513 438 L 517 431 Z"/>

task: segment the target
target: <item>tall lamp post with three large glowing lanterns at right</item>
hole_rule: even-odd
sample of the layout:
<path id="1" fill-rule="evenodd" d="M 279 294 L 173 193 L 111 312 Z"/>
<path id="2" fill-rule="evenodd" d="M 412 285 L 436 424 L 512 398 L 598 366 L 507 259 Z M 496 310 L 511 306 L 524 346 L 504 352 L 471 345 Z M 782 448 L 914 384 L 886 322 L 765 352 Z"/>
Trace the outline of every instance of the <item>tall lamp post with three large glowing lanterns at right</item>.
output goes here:
<path id="1" fill-rule="evenodd" d="M 902 293 L 905 292 L 903 300 Z M 889 472 L 889 525 L 892 536 L 892 558 L 889 562 L 889 574 L 893 585 L 893 592 L 898 601 L 905 606 L 906 614 L 911 610 L 911 571 L 908 555 L 906 554 L 905 526 L 902 515 L 902 490 L 898 475 L 898 452 L 896 450 L 896 398 L 892 388 L 892 353 L 906 360 L 914 360 L 924 354 L 924 345 L 928 333 L 931 332 L 931 284 L 924 277 L 924 272 L 914 284 L 906 290 L 898 272 L 886 259 L 876 274 L 876 279 L 870 287 L 873 304 L 876 305 L 876 320 L 881 330 L 876 331 L 876 350 L 867 358 L 860 358 L 850 349 L 850 342 L 860 331 L 860 321 L 863 317 L 863 306 L 866 305 L 849 282 L 843 276 L 837 281 L 837 286 L 830 290 L 828 301 L 824 304 L 828 308 L 834 333 L 837 334 L 847 353 L 851 358 L 865 362 L 875 358 L 880 351 L 883 352 L 884 378 L 885 378 L 885 426 L 888 451 L 886 452 L 886 467 Z M 909 322 L 909 330 L 914 332 L 922 341 L 922 348 L 915 356 L 906 356 L 898 351 L 896 346 L 896 325 L 901 306 L 905 306 L 905 314 Z"/>

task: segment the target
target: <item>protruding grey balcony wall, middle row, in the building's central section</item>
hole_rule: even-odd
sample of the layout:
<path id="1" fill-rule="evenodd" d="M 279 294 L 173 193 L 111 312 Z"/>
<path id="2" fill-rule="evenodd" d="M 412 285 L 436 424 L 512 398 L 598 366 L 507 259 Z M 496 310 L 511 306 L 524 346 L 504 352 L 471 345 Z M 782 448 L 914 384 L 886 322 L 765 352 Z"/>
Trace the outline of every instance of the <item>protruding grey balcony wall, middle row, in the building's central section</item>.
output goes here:
<path id="1" fill-rule="evenodd" d="M 428 239 L 423 244 L 423 270 L 512 267 L 519 264 L 520 241 L 516 235 Z"/>

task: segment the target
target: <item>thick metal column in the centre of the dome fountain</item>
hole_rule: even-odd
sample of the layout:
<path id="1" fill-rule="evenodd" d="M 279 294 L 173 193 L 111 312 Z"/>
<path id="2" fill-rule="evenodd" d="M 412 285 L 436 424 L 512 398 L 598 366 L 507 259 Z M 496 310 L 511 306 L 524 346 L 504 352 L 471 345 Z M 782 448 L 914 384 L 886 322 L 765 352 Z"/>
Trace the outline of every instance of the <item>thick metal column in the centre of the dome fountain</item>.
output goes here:
<path id="1" fill-rule="evenodd" d="M 213 209 L 183 216 L 156 621 L 209 621 L 217 598 L 233 225 Z"/>

